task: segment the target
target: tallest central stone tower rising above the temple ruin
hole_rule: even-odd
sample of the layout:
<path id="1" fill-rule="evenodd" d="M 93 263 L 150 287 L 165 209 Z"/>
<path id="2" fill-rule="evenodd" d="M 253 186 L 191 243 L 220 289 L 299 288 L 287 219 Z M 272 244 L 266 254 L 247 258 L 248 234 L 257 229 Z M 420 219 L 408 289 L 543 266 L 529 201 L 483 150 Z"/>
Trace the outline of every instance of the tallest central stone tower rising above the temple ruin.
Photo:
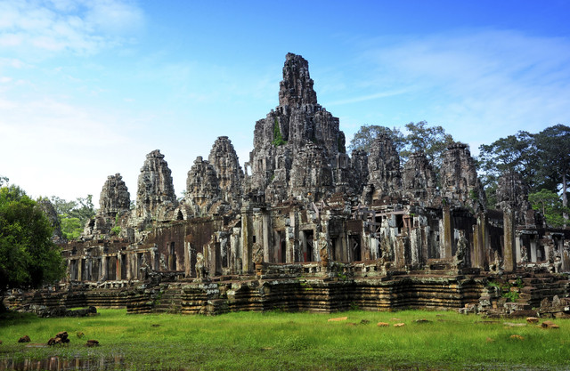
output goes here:
<path id="1" fill-rule="evenodd" d="M 279 106 L 256 122 L 249 155 L 248 191 L 270 204 L 288 198 L 316 201 L 350 181 L 350 158 L 338 118 L 317 103 L 309 64 L 289 53 L 283 66 Z M 343 179 L 346 178 L 346 179 Z"/>

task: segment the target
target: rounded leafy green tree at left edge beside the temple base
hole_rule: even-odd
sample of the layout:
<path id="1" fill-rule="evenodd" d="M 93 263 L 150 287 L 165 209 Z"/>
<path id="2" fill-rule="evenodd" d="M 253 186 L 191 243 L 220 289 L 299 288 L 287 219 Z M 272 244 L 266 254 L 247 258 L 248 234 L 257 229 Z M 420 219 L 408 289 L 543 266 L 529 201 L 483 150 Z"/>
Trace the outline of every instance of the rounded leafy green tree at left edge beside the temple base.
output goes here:
<path id="1" fill-rule="evenodd" d="M 6 287 L 38 287 L 63 276 L 52 232 L 44 212 L 23 190 L 0 188 L 0 294 Z"/>

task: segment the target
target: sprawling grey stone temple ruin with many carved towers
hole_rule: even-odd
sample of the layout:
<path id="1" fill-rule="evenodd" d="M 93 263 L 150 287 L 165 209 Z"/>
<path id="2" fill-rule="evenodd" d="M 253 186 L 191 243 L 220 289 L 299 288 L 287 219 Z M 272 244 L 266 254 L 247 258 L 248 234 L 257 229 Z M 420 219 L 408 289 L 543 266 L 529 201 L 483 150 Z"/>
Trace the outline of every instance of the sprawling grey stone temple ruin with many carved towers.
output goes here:
<path id="1" fill-rule="evenodd" d="M 570 231 L 546 227 L 516 173 L 487 210 L 464 144 L 444 152 L 439 185 L 424 153 L 402 164 L 387 136 L 349 156 L 300 55 L 287 54 L 279 105 L 256 122 L 253 144 L 242 169 L 219 137 L 193 162 L 182 200 L 159 150 L 142 164 L 134 209 L 120 174 L 109 176 L 98 214 L 63 245 L 61 286 L 12 304 L 521 311 L 568 294 L 558 273 L 570 270 Z M 517 302 L 487 285 L 517 278 Z"/>

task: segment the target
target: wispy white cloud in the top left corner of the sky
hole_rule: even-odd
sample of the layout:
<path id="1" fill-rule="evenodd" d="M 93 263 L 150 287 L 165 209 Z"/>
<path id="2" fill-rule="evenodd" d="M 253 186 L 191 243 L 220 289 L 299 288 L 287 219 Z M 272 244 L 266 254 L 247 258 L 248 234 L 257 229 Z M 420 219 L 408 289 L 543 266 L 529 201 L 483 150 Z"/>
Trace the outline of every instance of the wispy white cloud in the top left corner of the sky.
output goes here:
<path id="1" fill-rule="evenodd" d="M 122 44 L 143 23 L 142 10 L 123 0 L 7 0 L 0 3 L 0 50 L 92 54 Z"/>

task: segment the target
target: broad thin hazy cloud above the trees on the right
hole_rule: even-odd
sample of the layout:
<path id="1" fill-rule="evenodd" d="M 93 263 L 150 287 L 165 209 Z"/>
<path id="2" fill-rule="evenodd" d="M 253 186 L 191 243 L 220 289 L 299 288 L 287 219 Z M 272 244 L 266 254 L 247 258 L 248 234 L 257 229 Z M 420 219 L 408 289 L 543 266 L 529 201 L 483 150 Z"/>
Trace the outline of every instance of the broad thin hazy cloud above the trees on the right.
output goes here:
<path id="1" fill-rule="evenodd" d="M 387 89 L 413 90 L 406 109 L 422 117 L 410 120 L 444 125 L 462 141 L 493 141 L 570 121 L 566 38 L 470 30 L 379 43 L 364 58 L 382 70 L 367 80 L 380 97 Z"/>

